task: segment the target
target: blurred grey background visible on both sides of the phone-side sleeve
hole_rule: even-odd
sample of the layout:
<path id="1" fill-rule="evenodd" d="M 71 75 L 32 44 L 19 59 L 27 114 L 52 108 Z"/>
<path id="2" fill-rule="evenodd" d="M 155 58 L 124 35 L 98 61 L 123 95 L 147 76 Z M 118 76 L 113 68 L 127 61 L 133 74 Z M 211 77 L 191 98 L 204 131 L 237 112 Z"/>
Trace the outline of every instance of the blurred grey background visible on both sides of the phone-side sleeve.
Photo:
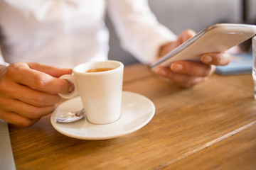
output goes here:
<path id="1" fill-rule="evenodd" d="M 215 23 L 256 22 L 256 0 L 149 0 L 151 11 L 159 22 L 174 33 L 192 29 L 200 30 Z M 110 60 L 119 60 L 124 64 L 138 62 L 119 46 L 110 18 L 106 18 L 110 29 Z"/>

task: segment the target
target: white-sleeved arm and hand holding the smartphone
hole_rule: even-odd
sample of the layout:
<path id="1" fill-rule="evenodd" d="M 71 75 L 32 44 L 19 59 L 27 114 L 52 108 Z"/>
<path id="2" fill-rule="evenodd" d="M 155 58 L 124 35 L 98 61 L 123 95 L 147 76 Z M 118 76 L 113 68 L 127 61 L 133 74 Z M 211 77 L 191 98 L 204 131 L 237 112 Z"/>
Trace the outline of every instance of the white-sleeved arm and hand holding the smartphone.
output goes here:
<path id="1" fill-rule="evenodd" d="M 144 64 L 154 62 L 196 35 L 192 30 L 186 30 L 177 38 L 156 20 L 145 0 L 110 0 L 109 13 L 122 47 Z M 202 56 L 202 62 L 177 61 L 169 68 L 159 67 L 156 74 L 180 86 L 190 87 L 206 81 L 214 72 L 215 65 L 228 64 L 230 57 L 224 55 L 228 54 L 206 54 Z"/>

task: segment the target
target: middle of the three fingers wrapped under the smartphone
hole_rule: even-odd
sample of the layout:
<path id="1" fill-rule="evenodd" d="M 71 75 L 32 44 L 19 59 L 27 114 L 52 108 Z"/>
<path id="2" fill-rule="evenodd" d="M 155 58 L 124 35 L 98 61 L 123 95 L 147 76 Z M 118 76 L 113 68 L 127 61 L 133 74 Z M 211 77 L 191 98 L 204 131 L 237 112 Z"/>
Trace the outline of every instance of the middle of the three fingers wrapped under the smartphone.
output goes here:
<path id="1" fill-rule="evenodd" d="M 172 72 L 194 77 L 208 77 L 211 73 L 211 66 L 201 62 L 177 61 L 173 62 L 170 68 Z"/>

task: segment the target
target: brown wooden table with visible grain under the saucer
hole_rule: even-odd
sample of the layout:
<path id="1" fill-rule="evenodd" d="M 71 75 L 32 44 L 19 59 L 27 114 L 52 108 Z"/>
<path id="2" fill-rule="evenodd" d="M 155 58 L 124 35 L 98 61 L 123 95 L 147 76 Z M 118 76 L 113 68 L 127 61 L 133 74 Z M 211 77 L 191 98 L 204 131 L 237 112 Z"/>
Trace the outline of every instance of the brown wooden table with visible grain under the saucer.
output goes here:
<path id="1" fill-rule="evenodd" d="M 31 128 L 9 125 L 17 169 L 256 169 L 256 101 L 250 74 L 219 76 L 191 89 L 142 64 L 124 69 L 125 91 L 151 99 L 154 118 L 111 140 L 57 132 L 50 115 Z"/>

